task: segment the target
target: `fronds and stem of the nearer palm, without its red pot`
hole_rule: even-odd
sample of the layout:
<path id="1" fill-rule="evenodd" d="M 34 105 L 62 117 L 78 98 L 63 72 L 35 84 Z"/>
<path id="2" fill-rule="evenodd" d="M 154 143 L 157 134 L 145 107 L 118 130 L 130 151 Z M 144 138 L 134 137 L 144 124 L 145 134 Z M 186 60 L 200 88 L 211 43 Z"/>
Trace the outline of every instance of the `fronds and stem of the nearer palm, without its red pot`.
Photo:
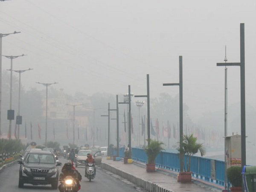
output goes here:
<path id="1" fill-rule="evenodd" d="M 186 167 L 183 165 L 183 169 L 185 172 L 190 172 L 191 166 L 191 157 L 200 151 L 201 156 L 204 156 L 205 149 L 203 144 L 197 143 L 197 138 L 193 137 L 193 134 L 183 135 L 183 142 L 180 143 L 180 147 L 177 148 L 179 153 L 186 155 Z"/>

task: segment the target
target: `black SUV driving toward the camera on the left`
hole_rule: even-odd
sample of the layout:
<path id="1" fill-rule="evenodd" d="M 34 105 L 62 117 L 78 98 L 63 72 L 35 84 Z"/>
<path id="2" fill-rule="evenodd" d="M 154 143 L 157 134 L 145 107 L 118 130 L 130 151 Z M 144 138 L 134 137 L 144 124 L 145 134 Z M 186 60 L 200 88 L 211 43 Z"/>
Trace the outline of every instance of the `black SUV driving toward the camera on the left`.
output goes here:
<path id="1" fill-rule="evenodd" d="M 18 160 L 18 163 L 20 163 L 20 188 L 24 183 L 51 184 L 53 189 L 58 188 L 59 171 L 56 166 L 61 166 L 61 163 L 56 163 L 52 152 L 31 150 L 26 154 L 24 160 Z"/>

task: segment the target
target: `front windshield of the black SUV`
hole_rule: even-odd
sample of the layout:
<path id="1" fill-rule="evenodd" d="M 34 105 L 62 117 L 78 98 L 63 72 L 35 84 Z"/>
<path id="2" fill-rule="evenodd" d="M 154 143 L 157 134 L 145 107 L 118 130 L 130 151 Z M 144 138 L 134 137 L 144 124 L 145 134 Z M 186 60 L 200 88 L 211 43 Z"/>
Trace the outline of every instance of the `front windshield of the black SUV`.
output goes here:
<path id="1" fill-rule="evenodd" d="M 55 164 L 52 154 L 28 154 L 26 156 L 26 163 L 39 163 L 39 164 Z"/>

